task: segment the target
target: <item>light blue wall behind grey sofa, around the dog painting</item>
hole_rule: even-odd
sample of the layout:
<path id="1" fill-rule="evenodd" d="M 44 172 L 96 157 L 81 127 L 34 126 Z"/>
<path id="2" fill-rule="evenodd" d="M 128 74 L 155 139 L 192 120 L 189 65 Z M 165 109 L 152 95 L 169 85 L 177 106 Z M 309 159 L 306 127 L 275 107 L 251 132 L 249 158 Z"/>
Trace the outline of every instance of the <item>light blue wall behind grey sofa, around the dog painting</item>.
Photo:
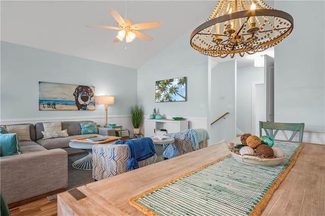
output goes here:
<path id="1" fill-rule="evenodd" d="M 126 79 L 127 78 L 127 79 Z M 137 70 L 1 42 L 1 120 L 84 118 L 104 119 L 95 111 L 39 111 L 39 81 L 91 85 L 96 95 L 114 95 L 109 115 L 129 115 L 137 102 Z"/>

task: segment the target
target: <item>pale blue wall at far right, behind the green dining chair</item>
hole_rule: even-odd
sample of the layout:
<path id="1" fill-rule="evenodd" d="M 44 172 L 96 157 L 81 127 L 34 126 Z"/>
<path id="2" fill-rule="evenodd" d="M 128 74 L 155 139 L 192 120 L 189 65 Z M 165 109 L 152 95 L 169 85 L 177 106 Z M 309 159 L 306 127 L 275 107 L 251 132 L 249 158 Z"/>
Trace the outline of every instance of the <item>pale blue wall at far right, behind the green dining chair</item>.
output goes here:
<path id="1" fill-rule="evenodd" d="M 274 121 L 324 130 L 325 2 L 275 1 L 275 8 L 294 17 L 294 30 L 274 48 Z"/>

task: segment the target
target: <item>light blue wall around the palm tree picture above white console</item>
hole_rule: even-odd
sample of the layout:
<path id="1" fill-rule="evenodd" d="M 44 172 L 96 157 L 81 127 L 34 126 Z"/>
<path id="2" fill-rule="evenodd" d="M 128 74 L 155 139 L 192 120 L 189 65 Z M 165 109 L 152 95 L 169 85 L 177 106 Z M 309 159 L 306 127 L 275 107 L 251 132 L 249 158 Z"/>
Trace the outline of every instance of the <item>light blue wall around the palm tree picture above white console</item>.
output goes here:
<path id="1" fill-rule="evenodd" d="M 138 102 L 166 117 L 208 117 L 208 57 L 191 48 L 190 32 L 138 69 Z M 155 102 L 155 81 L 187 77 L 187 101 Z M 202 107 L 203 106 L 203 107 Z M 164 117 L 165 117 L 164 116 Z"/>

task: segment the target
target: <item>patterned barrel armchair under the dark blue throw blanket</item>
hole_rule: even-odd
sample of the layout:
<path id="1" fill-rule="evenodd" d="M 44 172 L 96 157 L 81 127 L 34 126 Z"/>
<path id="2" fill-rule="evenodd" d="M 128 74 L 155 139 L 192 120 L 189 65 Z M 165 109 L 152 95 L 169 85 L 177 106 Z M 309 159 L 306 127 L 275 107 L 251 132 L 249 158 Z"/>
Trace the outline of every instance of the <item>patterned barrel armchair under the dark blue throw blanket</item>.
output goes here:
<path id="1" fill-rule="evenodd" d="M 129 149 L 127 145 L 101 144 L 92 147 L 92 178 L 99 181 L 127 171 Z M 139 168 L 154 163 L 156 155 L 138 161 Z"/>

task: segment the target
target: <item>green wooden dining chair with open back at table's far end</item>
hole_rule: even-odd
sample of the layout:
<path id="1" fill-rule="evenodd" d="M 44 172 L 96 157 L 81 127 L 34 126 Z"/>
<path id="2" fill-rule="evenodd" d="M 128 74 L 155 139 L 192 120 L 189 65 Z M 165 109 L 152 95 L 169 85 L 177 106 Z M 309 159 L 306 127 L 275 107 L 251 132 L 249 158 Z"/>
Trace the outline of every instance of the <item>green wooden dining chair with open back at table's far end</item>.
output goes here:
<path id="1" fill-rule="evenodd" d="M 259 136 L 262 136 L 264 129 L 266 135 L 271 136 L 273 139 L 277 135 L 279 130 L 283 131 L 283 134 L 288 141 L 292 141 L 297 132 L 299 131 L 299 142 L 303 141 L 305 123 L 276 123 L 276 122 L 259 122 Z M 287 137 L 285 131 L 292 131 L 290 138 Z"/>

